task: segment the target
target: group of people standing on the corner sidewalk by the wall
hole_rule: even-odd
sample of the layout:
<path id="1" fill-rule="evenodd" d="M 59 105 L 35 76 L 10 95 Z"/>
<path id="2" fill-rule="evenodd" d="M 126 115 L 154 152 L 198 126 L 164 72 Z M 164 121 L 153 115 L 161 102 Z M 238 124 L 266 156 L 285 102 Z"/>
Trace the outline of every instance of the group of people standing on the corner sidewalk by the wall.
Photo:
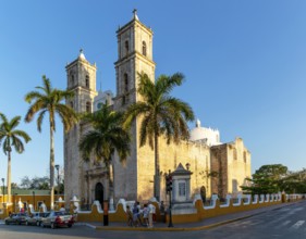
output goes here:
<path id="1" fill-rule="evenodd" d="M 143 209 L 139 202 L 135 202 L 132 209 L 126 205 L 126 214 L 127 225 L 131 227 L 146 226 L 152 228 L 154 222 L 156 222 L 156 206 L 152 203 L 145 203 Z"/>

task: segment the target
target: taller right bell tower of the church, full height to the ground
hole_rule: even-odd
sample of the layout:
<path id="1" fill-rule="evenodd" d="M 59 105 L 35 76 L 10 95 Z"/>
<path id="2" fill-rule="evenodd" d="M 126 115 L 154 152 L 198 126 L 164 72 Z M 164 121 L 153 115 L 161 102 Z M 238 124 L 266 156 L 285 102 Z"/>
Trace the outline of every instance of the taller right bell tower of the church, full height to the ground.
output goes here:
<path id="1" fill-rule="evenodd" d="M 117 39 L 114 110 L 124 111 L 132 103 L 142 100 L 137 93 L 138 74 L 146 73 L 151 80 L 155 80 L 152 30 L 139 21 L 137 11 L 134 10 L 133 18 L 117 30 Z M 115 199 L 142 200 L 143 197 L 147 199 L 152 196 L 152 184 L 148 184 L 148 178 L 152 178 L 152 175 L 144 175 L 142 171 L 143 165 L 147 165 L 142 160 L 144 155 L 150 164 L 154 162 L 154 158 L 146 153 L 152 151 L 146 149 L 146 146 L 139 148 L 139 126 L 140 123 L 136 120 L 131 127 L 131 153 L 125 166 L 122 166 L 118 155 L 113 161 Z"/>

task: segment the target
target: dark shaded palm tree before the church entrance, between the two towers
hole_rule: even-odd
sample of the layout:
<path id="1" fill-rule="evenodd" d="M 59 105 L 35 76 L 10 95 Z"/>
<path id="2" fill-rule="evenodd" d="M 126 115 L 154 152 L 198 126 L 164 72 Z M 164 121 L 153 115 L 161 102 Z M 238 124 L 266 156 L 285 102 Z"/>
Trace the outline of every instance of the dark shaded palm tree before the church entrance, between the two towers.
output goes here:
<path id="1" fill-rule="evenodd" d="M 79 141 L 79 150 L 83 159 L 89 161 L 90 154 L 96 161 L 102 161 L 108 169 L 110 190 L 112 181 L 109 166 L 112 163 L 112 155 L 117 151 L 121 162 L 124 162 L 130 154 L 130 134 L 122 128 L 123 114 L 114 112 L 109 105 L 84 117 L 84 123 L 89 123 L 93 129 L 87 131 Z"/>

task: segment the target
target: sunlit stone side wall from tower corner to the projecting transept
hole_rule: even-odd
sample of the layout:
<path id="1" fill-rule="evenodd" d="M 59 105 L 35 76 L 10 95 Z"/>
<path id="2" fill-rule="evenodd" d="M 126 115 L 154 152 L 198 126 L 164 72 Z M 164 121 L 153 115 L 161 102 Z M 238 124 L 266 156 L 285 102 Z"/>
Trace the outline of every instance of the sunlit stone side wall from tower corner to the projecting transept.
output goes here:
<path id="1" fill-rule="evenodd" d="M 160 198 L 166 200 L 166 178 L 164 173 L 175 171 L 180 163 L 185 165 L 189 163 L 189 171 L 193 173 L 191 178 L 191 194 L 199 193 L 199 188 L 205 186 L 210 194 L 210 179 L 204 177 L 204 172 L 210 169 L 209 148 L 199 144 L 182 141 L 180 144 L 167 144 L 164 138 L 159 139 L 159 159 L 160 159 Z M 155 154 L 148 146 L 138 150 L 137 160 L 138 174 L 138 199 L 148 200 L 154 197 L 154 175 L 155 175 Z"/>

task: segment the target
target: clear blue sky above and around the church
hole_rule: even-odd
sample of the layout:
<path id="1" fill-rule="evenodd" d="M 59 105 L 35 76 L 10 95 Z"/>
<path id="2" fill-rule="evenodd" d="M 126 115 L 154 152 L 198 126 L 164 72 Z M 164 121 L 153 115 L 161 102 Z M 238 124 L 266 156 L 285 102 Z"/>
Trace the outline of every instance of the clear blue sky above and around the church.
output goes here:
<path id="1" fill-rule="evenodd" d="M 79 48 L 98 66 L 98 86 L 114 92 L 115 30 L 138 10 L 154 29 L 156 75 L 182 72 L 173 93 L 187 101 L 201 125 L 221 140 L 242 137 L 253 172 L 264 164 L 305 167 L 306 1 L 2 1 L 0 5 L 0 112 L 24 117 L 26 92 L 46 74 L 65 88 L 65 64 Z M 12 154 L 12 178 L 45 176 L 49 130 L 21 124 L 33 140 Z M 56 163 L 63 165 L 63 134 L 57 124 Z M 0 152 L 0 177 L 7 158 Z"/>

